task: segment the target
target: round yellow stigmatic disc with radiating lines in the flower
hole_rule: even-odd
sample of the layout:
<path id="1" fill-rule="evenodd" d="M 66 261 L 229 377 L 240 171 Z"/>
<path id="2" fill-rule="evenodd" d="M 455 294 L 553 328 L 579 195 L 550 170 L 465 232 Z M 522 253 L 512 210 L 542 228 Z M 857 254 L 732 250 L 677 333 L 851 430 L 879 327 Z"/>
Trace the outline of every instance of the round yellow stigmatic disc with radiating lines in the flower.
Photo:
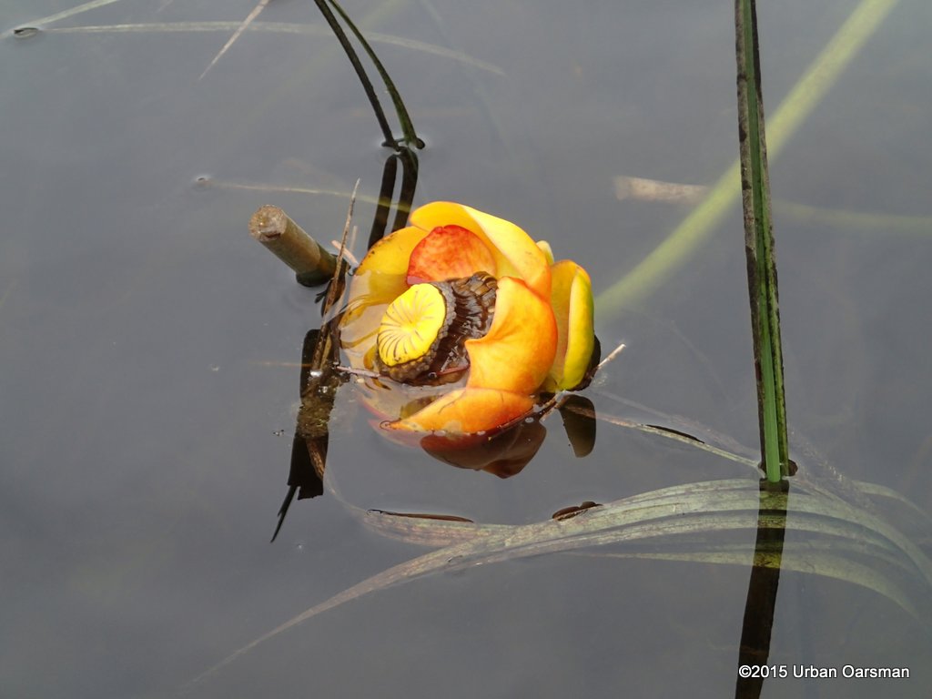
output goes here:
<path id="1" fill-rule="evenodd" d="M 378 357 L 386 366 L 427 354 L 447 322 L 446 299 L 433 284 L 415 284 L 391 302 L 378 326 Z"/>

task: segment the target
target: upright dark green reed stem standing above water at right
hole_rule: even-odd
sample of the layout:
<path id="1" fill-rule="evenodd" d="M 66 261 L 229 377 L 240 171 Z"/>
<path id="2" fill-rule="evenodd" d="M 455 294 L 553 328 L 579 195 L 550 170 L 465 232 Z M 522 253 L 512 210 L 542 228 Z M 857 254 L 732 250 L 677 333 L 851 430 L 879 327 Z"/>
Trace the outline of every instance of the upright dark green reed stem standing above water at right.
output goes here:
<path id="1" fill-rule="evenodd" d="M 787 407 L 774 256 L 774 226 L 764 135 L 763 89 L 754 0 L 735 0 L 735 57 L 738 69 L 738 132 L 741 191 L 745 213 L 747 289 L 757 377 L 761 454 L 767 480 L 789 474 Z"/>

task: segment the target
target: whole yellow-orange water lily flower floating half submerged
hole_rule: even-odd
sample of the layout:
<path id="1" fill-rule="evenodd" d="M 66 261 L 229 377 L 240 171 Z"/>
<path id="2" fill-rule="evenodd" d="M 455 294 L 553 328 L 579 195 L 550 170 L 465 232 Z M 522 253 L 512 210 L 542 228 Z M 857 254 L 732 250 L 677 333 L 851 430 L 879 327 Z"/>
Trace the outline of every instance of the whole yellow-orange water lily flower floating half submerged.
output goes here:
<path id="1" fill-rule="evenodd" d="M 340 324 L 366 402 L 401 432 L 462 436 L 571 390 L 595 346 L 592 285 L 509 221 L 436 201 L 372 247 Z"/>

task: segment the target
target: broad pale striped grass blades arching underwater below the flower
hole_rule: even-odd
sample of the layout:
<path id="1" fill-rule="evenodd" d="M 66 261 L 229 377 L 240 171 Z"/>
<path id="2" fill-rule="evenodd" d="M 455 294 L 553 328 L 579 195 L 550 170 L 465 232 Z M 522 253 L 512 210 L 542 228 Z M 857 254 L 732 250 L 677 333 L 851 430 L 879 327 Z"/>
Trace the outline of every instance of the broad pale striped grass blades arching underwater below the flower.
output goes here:
<path id="1" fill-rule="evenodd" d="M 729 479 L 668 487 L 595 507 L 570 519 L 524 526 L 475 525 L 369 513 L 369 517 L 396 517 L 392 527 L 398 531 L 404 528 L 409 535 L 418 529 L 425 530 L 422 538 L 425 542 L 441 530 L 452 541 L 459 542 L 384 570 L 297 614 L 231 653 L 193 681 L 207 678 L 259 644 L 326 610 L 442 570 L 618 544 L 637 545 L 637 549 L 624 552 L 637 557 L 681 555 L 683 560 L 748 565 L 753 559 L 754 546 L 747 537 L 738 541 L 737 548 L 724 550 L 721 541 L 711 541 L 706 551 L 703 546 L 709 543 L 708 536 L 728 532 L 749 534 L 759 524 L 759 506 L 779 510 L 786 504 L 782 493 L 761 493 L 756 480 Z M 404 523 L 399 524 L 397 519 L 404 519 Z M 774 518 L 773 526 L 783 526 L 782 517 L 779 519 L 777 523 Z M 769 526 L 769 521 L 767 517 L 761 518 L 764 526 Z M 793 536 L 785 547 L 784 565 L 837 577 L 888 596 L 911 613 L 928 613 L 925 593 L 932 584 L 932 562 L 882 520 L 843 500 L 797 487 L 788 514 L 788 529 Z M 682 550 L 683 537 L 687 542 L 690 538 L 697 540 L 696 549 Z M 677 545 L 679 550 L 675 548 Z M 829 564 L 824 565 L 826 551 L 831 557 Z M 843 555 L 846 551 L 852 552 L 850 560 Z M 891 577 L 895 573 L 896 579 Z M 909 592 L 910 584 L 919 592 Z"/>

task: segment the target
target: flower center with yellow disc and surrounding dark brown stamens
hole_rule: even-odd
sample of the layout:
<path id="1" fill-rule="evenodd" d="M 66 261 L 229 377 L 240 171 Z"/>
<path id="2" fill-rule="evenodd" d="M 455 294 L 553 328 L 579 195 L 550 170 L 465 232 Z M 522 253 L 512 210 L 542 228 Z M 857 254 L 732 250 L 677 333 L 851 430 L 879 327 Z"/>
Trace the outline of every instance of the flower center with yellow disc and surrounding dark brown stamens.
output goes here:
<path id="1" fill-rule="evenodd" d="M 377 365 L 413 385 L 455 381 L 469 368 L 465 342 L 485 336 L 495 312 L 497 283 L 484 272 L 415 284 L 391 302 L 377 337 Z"/>

